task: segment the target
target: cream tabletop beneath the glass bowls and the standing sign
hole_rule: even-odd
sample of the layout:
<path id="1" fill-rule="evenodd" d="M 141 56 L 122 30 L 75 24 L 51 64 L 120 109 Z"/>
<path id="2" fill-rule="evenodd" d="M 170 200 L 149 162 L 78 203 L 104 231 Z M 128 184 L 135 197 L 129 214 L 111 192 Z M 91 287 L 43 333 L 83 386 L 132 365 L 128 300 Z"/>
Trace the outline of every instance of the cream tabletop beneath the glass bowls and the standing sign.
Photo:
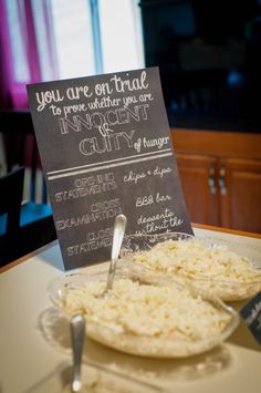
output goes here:
<path id="1" fill-rule="evenodd" d="M 206 226 L 195 226 L 195 235 L 261 247 L 258 235 Z M 97 271 L 101 265 L 84 269 Z M 69 323 L 58 314 L 46 291 L 49 282 L 64 271 L 59 245 L 54 241 L 1 270 L 0 392 L 55 393 L 61 373 L 71 362 Z M 242 321 L 222 345 L 190 359 L 143 359 L 86 339 L 84 362 L 90 360 L 169 392 L 260 392 L 261 348 Z"/>

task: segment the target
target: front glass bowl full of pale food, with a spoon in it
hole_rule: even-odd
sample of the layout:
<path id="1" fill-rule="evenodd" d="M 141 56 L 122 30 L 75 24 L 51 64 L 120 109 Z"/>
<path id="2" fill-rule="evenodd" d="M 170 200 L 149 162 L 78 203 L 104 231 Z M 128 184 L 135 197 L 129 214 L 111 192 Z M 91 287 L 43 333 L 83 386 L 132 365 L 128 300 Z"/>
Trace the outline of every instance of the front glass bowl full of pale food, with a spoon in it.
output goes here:
<path id="1" fill-rule="evenodd" d="M 116 270 L 113 291 L 104 299 L 96 297 L 97 292 L 91 298 L 86 296 L 86 292 L 81 292 L 81 300 L 79 300 L 79 291 L 85 291 L 84 288 L 86 287 L 88 288 L 87 291 L 90 291 L 93 285 L 98 285 L 101 287 L 98 293 L 100 291 L 102 292 L 105 287 L 106 278 L 107 270 L 103 270 L 98 273 L 65 273 L 50 283 L 49 294 L 52 302 L 59 307 L 67 318 L 71 318 L 73 313 L 82 312 L 86 319 L 87 337 L 115 350 L 149 358 L 186 358 L 202 353 L 219 345 L 238 327 L 238 313 L 218 298 L 206 297 L 205 293 L 201 294 L 198 290 L 186 288 L 173 280 L 171 283 L 169 283 L 164 276 L 157 277 L 152 275 L 149 269 L 138 267 L 138 269 L 133 270 L 129 269 L 129 266 L 124 263 Z M 117 286 L 121 286 L 122 280 L 127 280 L 129 282 L 128 286 L 136 286 L 135 289 L 129 290 L 124 281 L 122 286 L 124 293 L 118 296 Z M 170 291 L 170 297 L 173 297 L 173 291 L 182 291 L 180 292 L 182 293 L 181 303 L 186 306 L 182 307 L 184 310 L 186 309 L 187 316 L 190 317 L 190 321 L 187 323 L 186 319 L 181 318 L 181 322 L 179 323 L 181 323 L 181 329 L 188 331 L 188 335 L 180 334 L 180 325 L 176 325 L 176 322 L 174 322 L 171 318 L 169 319 L 171 323 L 170 329 L 168 327 L 167 333 L 160 332 L 160 321 L 163 321 L 161 307 L 165 307 L 164 312 L 166 316 L 173 310 L 176 310 L 177 316 L 179 316 L 180 309 L 179 303 L 176 303 L 176 307 L 168 307 L 169 303 L 164 303 L 164 298 L 161 299 L 160 297 L 163 294 L 161 290 L 165 292 L 166 288 Z M 150 299 L 154 298 L 153 293 L 155 293 L 155 291 L 158 293 L 160 290 L 160 293 L 159 298 L 157 298 L 158 308 L 152 303 L 150 309 L 149 307 L 145 308 L 145 311 L 140 312 L 137 317 L 137 314 L 134 316 L 133 308 L 137 307 L 135 304 L 137 304 L 137 293 L 139 293 L 139 290 L 146 291 L 147 306 L 150 304 Z M 153 291 L 152 293 L 150 290 Z M 71 301 L 69 301 L 70 297 Z M 203 308 L 201 316 L 196 313 L 195 318 L 191 318 L 194 308 L 191 310 L 187 308 L 186 297 L 190 299 L 190 302 L 203 302 L 203 307 L 207 307 L 207 309 Z M 126 299 L 127 302 L 125 301 Z M 106 308 L 108 304 L 106 302 L 113 303 L 109 310 L 114 317 L 111 318 L 109 316 L 109 321 L 107 316 L 111 311 Z M 96 304 L 95 311 L 90 312 L 90 308 L 94 307 L 93 304 Z M 117 312 L 118 307 L 119 311 Z M 216 325 L 215 333 L 211 333 L 211 329 L 206 329 L 205 324 L 207 323 L 208 325 L 208 321 L 210 321 L 208 318 L 212 318 L 207 314 L 209 308 L 211 308 L 211 312 L 215 313 L 216 318 L 213 318 L 215 322 L 211 320 L 211 323 L 218 323 L 218 330 Z M 154 313 L 155 317 L 153 317 Z M 146 323 L 148 319 L 150 319 L 152 323 L 149 322 L 147 324 L 147 329 Z M 219 320 L 218 322 L 216 322 L 217 319 Z M 200 324 L 201 320 L 203 320 L 202 325 Z M 158 324 L 159 331 L 157 331 Z M 155 325 L 156 332 L 152 332 L 150 330 L 154 329 Z M 132 329 L 134 330 L 132 331 Z M 137 332 L 135 329 L 138 331 L 142 329 L 142 332 Z M 197 334 L 195 333 L 196 331 Z"/>

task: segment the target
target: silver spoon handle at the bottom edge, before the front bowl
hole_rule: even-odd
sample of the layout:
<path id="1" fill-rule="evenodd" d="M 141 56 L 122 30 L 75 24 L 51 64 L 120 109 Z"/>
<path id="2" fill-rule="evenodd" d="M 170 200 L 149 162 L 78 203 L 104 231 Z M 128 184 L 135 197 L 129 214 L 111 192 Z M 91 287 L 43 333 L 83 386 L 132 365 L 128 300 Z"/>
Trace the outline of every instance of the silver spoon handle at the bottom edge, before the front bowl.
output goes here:
<path id="1" fill-rule="evenodd" d="M 72 391 L 80 392 L 82 389 L 81 363 L 82 363 L 83 343 L 85 337 L 84 317 L 81 314 L 73 316 L 70 325 L 71 325 L 71 340 L 72 340 L 72 348 L 73 348 Z"/>

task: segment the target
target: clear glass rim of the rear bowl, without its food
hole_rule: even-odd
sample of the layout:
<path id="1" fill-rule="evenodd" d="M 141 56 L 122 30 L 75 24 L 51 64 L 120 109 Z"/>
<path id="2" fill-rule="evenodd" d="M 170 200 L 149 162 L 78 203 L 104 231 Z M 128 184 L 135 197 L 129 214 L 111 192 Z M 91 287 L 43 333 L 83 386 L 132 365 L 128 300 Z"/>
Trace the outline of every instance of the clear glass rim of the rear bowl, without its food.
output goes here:
<path id="1" fill-rule="evenodd" d="M 244 242 L 237 242 L 221 239 L 215 236 L 197 237 L 184 232 L 166 232 L 154 235 L 127 235 L 124 238 L 121 257 L 124 259 L 133 252 L 150 250 L 156 244 L 167 241 L 169 239 L 179 241 L 199 240 L 206 247 L 212 248 L 217 246 L 227 246 L 230 251 L 240 256 L 248 257 L 251 267 L 260 273 L 260 280 L 254 281 L 233 281 L 209 278 L 207 276 L 198 276 L 197 278 L 188 278 L 181 275 L 175 275 L 175 278 L 181 278 L 185 285 L 191 285 L 198 289 L 205 286 L 205 290 L 213 290 L 215 296 L 225 301 L 238 301 L 253 297 L 261 290 L 261 246 L 252 246 Z M 165 275 L 161 272 L 161 275 Z M 170 276 L 169 273 L 166 273 Z M 174 276 L 173 276 L 174 277 Z M 207 285 L 207 287 L 206 287 Z M 217 287 L 217 285 L 219 287 Z M 209 288 L 208 288 L 209 287 Z"/>

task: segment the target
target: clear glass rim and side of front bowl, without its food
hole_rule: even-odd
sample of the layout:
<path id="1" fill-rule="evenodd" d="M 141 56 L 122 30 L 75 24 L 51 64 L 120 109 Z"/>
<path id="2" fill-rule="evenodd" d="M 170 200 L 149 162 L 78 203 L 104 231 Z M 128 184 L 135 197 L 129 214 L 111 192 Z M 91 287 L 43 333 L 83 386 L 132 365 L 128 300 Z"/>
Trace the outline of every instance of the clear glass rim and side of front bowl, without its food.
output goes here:
<path id="1" fill-rule="evenodd" d="M 146 269 L 145 269 L 146 270 Z M 145 271 L 144 270 L 144 271 Z M 137 271 L 134 273 L 136 277 Z M 121 277 L 132 277 L 132 272 L 126 270 L 126 267 L 117 269 L 115 279 Z M 48 292 L 53 304 L 62 311 L 66 318 L 71 318 L 64 310 L 63 296 L 64 290 L 67 288 L 81 288 L 84 282 L 90 280 L 105 281 L 107 278 L 107 269 L 97 273 L 87 272 L 74 272 L 64 273 L 56 279 L 52 280 L 48 287 Z M 169 282 L 169 281 L 168 281 Z M 161 281 L 159 285 L 166 285 Z M 175 283 L 184 287 L 180 283 Z M 191 289 L 195 292 L 195 289 Z M 199 293 L 199 291 L 198 291 Z M 191 342 L 184 342 L 180 340 L 174 340 L 169 338 L 135 335 L 129 333 L 115 333 L 108 327 L 103 325 L 92 319 L 86 323 L 86 335 L 106 347 L 115 350 L 146 358 L 186 358 L 195 354 L 206 352 L 228 339 L 239 324 L 239 314 L 233 308 L 226 306 L 220 299 L 216 297 L 209 297 L 205 300 L 209 301 L 216 309 L 222 309 L 231 318 L 228 324 L 223 328 L 220 334 L 203 340 L 195 340 Z"/>

